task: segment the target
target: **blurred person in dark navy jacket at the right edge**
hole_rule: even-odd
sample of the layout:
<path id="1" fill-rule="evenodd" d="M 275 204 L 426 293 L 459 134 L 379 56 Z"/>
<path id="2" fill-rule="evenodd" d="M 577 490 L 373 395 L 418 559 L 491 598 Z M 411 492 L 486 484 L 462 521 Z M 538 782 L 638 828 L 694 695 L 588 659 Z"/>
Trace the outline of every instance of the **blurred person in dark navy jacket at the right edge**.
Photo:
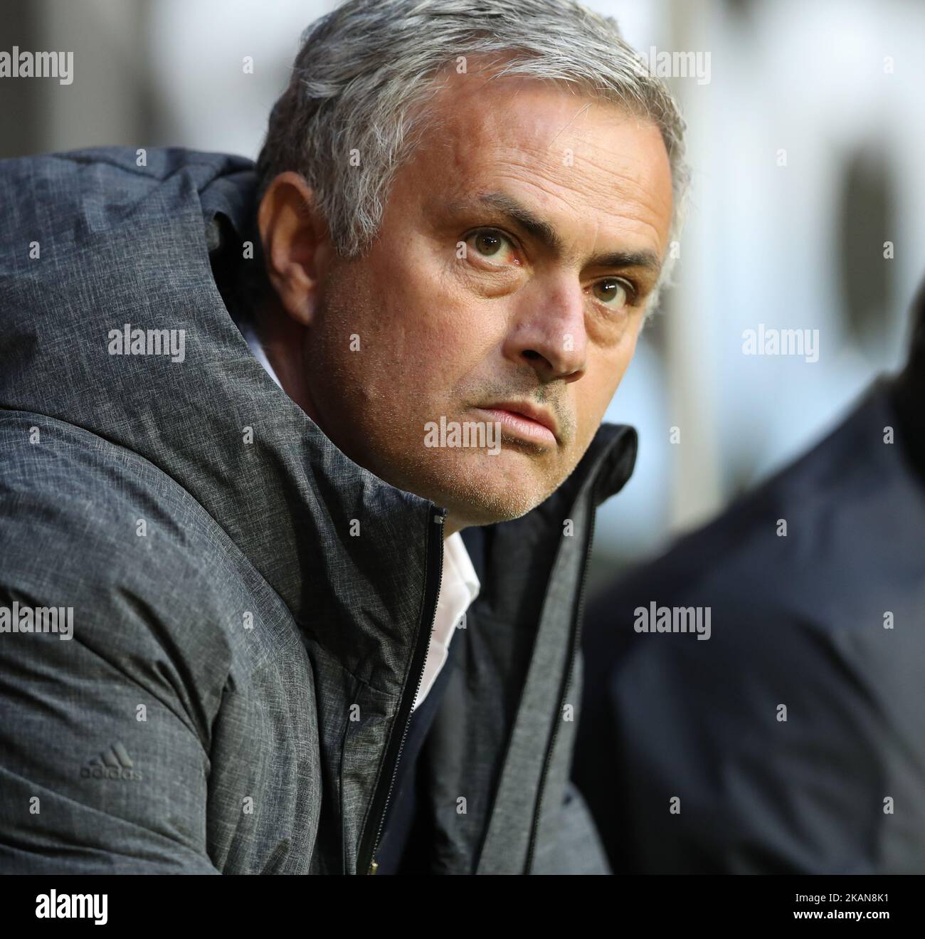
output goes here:
<path id="1" fill-rule="evenodd" d="M 898 377 L 589 605 L 574 778 L 614 870 L 925 871 L 923 401 L 925 286 Z M 653 602 L 708 638 L 638 630 Z"/>

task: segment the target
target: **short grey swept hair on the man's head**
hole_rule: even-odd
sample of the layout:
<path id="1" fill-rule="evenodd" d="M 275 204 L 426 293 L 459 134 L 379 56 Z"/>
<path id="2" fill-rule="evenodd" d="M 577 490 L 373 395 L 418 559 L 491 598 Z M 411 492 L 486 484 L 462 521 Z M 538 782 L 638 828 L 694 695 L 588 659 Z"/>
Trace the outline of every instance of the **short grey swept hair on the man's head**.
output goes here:
<path id="1" fill-rule="evenodd" d="M 677 238 L 690 179 L 685 122 L 613 18 L 574 0 L 347 0 L 311 23 L 300 41 L 257 160 L 258 199 L 280 173 L 301 174 L 341 256 L 360 256 L 375 239 L 395 174 L 430 126 L 426 102 L 439 89 L 436 77 L 460 56 L 492 56 L 503 65 L 493 78 L 566 83 L 652 120 L 671 165 L 669 238 Z M 352 151 L 361 154 L 359 165 Z M 673 255 L 669 250 L 659 287 Z"/>

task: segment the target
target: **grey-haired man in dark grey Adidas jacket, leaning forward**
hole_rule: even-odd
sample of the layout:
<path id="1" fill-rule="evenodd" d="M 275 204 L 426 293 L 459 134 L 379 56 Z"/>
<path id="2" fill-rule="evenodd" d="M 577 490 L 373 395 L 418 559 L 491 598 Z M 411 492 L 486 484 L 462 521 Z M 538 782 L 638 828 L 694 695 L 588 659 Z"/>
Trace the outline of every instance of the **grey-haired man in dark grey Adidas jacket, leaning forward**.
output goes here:
<path id="1" fill-rule="evenodd" d="M 256 168 L 4 166 L 0 606 L 72 639 L 0 634 L 3 870 L 607 870 L 578 614 L 682 134 L 571 3 L 355 0 Z"/>

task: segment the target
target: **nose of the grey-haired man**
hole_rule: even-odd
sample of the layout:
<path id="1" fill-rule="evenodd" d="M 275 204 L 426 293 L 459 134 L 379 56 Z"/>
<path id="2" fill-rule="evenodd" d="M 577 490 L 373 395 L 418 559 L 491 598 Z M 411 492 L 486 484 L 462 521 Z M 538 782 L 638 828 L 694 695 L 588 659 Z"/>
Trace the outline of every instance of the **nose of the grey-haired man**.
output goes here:
<path id="1" fill-rule="evenodd" d="M 544 383 L 584 375 L 587 333 L 579 285 L 523 291 L 505 341 L 506 358 L 526 363 Z"/>

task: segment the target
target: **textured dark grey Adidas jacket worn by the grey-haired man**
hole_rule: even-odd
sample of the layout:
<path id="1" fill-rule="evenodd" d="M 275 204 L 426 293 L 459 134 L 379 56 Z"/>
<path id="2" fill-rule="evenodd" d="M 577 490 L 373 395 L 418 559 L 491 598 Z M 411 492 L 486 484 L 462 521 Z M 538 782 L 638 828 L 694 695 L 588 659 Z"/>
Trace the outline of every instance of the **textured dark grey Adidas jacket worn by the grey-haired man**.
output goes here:
<path id="1" fill-rule="evenodd" d="M 443 510 L 356 466 L 252 357 L 209 250 L 241 257 L 254 186 L 249 161 L 177 149 L 0 162 L 0 607 L 74 611 L 70 640 L 0 633 L 2 871 L 367 870 Z M 111 355 L 125 323 L 185 331 L 184 360 Z M 478 870 L 483 843 L 524 872 L 531 836 L 542 870 L 593 854 L 559 705 L 586 526 L 635 452 L 603 425 L 549 500 L 484 530 L 427 747 L 434 872 Z"/>

